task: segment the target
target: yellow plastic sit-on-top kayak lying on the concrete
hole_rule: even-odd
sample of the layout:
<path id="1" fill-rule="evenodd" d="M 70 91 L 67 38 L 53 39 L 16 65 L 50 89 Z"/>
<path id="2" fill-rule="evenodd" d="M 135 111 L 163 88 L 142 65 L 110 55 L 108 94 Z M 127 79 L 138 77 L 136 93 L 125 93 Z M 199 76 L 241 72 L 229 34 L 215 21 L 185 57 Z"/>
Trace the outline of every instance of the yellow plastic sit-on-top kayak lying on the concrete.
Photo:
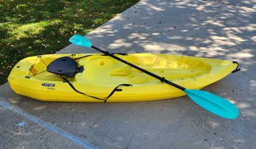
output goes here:
<path id="1" fill-rule="evenodd" d="M 230 74 L 227 60 L 171 54 L 115 54 L 187 89 L 201 89 Z M 8 77 L 18 94 L 40 101 L 153 101 L 185 95 L 182 90 L 103 54 L 27 57 Z"/>

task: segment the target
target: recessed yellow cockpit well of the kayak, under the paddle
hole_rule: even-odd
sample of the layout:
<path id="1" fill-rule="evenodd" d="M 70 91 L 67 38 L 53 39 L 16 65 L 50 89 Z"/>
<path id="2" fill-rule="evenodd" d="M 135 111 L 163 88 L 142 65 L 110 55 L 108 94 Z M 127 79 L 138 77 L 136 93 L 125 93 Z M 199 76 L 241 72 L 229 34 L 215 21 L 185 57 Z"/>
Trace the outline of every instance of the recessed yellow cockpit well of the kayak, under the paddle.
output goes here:
<path id="1" fill-rule="evenodd" d="M 196 79 L 204 76 L 211 70 L 210 65 L 197 59 L 189 60 L 180 56 L 158 56 L 154 54 L 129 54 L 120 56 L 140 68 L 163 76 L 170 81 L 185 79 Z M 90 57 L 85 65 L 86 72 L 83 79 L 96 84 L 159 84 L 159 80 L 154 79 L 146 73 L 125 65 L 111 57 Z"/>

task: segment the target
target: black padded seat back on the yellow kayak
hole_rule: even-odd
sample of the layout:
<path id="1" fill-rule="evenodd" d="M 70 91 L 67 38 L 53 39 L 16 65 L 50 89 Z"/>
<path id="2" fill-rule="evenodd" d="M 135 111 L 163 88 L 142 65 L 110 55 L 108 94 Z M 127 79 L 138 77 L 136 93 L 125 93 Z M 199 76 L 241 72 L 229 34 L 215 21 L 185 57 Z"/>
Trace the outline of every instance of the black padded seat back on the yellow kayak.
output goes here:
<path id="1" fill-rule="evenodd" d="M 49 73 L 74 77 L 77 73 L 77 62 L 74 59 L 71 59 L 71 57 L 60 57 L 54 59 L 54 61 L 47 66 L 46 70 Z"/>

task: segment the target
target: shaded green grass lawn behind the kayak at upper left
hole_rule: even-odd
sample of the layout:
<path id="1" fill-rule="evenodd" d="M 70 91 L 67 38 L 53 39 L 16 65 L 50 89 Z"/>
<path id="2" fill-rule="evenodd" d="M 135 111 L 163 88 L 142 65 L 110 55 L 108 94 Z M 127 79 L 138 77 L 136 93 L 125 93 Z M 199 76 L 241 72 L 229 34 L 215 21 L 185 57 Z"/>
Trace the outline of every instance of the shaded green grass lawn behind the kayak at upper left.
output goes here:
<path id="1" fill-rule="evenodd" d="M 138 0 L 0 0 L 0 84 L 25 57 L 54 54 Z"/>

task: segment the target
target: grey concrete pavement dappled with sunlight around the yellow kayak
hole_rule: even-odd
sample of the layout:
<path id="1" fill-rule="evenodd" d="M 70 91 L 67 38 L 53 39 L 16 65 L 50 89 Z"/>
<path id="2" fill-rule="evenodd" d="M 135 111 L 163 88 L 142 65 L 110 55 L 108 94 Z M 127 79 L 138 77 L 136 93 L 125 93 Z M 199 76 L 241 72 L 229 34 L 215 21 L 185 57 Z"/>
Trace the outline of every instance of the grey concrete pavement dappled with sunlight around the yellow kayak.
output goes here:
<path id="1" fill-rule="evenodd" d="M 0 87 L 0 148 L 255 148 L 256 1 L 142 0 L 86 35 L 111 52 L 230 59 L 241 71 L 203 90 L 235 103 L 235 120 L 188 97 L 57 103 Z M 59 53 L 96 51 L 68 46 Z"/>

